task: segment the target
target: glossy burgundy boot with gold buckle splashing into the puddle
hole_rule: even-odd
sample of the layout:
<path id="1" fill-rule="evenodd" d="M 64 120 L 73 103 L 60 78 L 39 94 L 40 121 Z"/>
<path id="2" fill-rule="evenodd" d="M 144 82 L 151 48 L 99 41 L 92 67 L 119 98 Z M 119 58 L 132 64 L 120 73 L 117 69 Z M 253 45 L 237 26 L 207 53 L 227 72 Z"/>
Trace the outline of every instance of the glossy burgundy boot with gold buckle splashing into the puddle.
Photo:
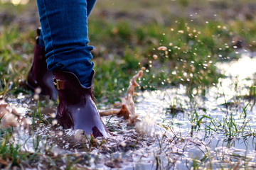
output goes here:
<path id="1" fill-rule="evenodd" d="M 109 130 L 102 122 L 100 114 L 95 105 L 93 96 L 92 81 L 95 72 L 90 75 L 90 86 L 85 88 L 80 84 L 78 77 L 71 72 L 60 70 L 53 71 L 55 79 L 53 84 L 58 89 L 58 123 L 63 128 L 73 128 L 74 130 L 84 130 L 87 138 L 108 137 Z"/>

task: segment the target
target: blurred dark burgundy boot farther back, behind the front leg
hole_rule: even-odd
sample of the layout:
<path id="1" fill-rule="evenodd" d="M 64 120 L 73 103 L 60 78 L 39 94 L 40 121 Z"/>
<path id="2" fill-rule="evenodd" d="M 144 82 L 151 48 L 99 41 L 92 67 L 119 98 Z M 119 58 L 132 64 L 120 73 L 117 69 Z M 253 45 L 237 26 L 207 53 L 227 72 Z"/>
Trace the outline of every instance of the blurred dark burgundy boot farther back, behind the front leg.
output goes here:
<path id="1" fill-rule="evenodd" d="M 40 29 L 38 29 L 40 35 Z M 54 101 L 57 100 L 57 91 L 53 86 L 53 72 L 48 71 L 46 65 L 46 52 L 38 45 L 38 37 L 36 38 L 36 45 L 34 47 L 33 64 L 28 72 L 26 86 L 31 91 L 36 88 L 41 89 L 41 94 L 49 96 Z"/>

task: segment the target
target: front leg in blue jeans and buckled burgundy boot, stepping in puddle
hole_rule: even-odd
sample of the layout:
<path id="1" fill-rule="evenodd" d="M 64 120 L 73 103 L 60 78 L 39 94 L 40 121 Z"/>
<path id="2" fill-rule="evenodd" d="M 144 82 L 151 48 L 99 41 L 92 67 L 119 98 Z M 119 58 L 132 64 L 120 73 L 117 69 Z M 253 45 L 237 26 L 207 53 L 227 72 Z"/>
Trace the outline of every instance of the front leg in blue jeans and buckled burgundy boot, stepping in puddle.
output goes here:
<path id="1" fill-rule="evenodd" d="M 93 0 L 94 1 L 94 0 Z M 89 0 L 88 0 L 89 2 Z M 37 0 L 48 69 L 58 90 L 57 119 L 64 128 L 82 129 L 87 137 L 109 136 L 92 94 L 95 72 L 87 45 L 86 0 Z M 90 2 L 90 10 L 94 3 Z"/>

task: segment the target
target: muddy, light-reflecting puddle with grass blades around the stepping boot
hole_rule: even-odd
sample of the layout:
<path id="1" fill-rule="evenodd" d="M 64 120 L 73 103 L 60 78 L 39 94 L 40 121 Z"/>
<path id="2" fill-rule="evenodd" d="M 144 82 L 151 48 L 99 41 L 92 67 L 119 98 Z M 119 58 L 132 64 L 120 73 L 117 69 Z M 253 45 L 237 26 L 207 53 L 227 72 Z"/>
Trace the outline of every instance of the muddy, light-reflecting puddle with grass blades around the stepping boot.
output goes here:
<path id="1" fill-rule="evenodd" d="M 256 59 L 247 55 L 218 64 L 227 77 L 209 89 L 206 98 L 188 98 L 185 86 L 140 93 L 135 109 L 141 121 L 134 127 L 122 118 L 105 116 L 102 120 L 112 137 L 99 137 L 94 143 L 78 141 L 73 130 L 53 126 L 50 114 L 55 105 L 46 103 L 44 123 L 35 123 L 31 132 L 18 130 L 15 142 L 25 151 L 51 152 L 61 155 L 63 162 L 79 159 L 80 167 L 92 169 L 256 168 L 255 105 L 238 98 L 249 93 L 255 65 Z M 29 98 L 20 95 L 6 101 L 28 115 L 33 113 L 31 106 L 37 108 Z M 168 109 L 171 106 L 174 110 Z"/>

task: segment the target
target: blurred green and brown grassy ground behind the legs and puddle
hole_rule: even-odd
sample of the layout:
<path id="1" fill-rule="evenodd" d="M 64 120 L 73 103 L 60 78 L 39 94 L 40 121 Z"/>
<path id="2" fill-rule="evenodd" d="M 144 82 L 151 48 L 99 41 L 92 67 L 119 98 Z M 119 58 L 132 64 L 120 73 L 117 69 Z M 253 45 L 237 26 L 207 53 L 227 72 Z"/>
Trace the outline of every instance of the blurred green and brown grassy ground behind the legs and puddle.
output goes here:
<path id="1" fill-rule="evenodd" d="M 255 51 L 255 16 L 253 0 L 98 0 L 88 22 L 98 100 L 119 100 L 139 69 L 142 90 L 183 84 L 204 94 L 223 76 L 215 63 Z M 12 84 L 10 93 L 22 90 L 38 26 L 36 1 L 0 0 L 1 88 Z"/>

